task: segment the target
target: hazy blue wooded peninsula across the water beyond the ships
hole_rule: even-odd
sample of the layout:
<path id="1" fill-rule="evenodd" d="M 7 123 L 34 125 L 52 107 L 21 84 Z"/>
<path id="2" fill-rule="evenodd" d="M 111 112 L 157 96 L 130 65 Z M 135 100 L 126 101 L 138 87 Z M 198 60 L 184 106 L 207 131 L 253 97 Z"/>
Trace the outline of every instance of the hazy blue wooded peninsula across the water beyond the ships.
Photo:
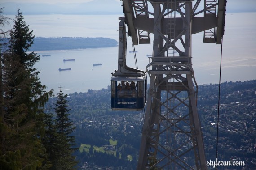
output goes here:
<path id="1" fill-rule="evenodd" d="M 35 37 L 30 51 L 75 50 L 86 48 L 116 47 L 117 41 L 111 38 L 89 37 Z"/>

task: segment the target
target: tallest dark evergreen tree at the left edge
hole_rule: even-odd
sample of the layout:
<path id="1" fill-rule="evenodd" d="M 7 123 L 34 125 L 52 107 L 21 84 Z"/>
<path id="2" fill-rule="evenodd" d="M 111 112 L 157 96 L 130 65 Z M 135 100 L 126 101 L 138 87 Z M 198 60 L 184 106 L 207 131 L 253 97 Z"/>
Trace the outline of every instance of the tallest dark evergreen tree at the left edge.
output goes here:
<path id="1" fill-rule="evenodd" d="M 46 92 L 34 68 L 40 57 L 28 52 L 33 44 L 33 31 L 29 30 L 18 9 L 10 31 L 9 50 L 2 57 L 1 90 L 4 94 L 4 123 L 8 125 L 5 148 L 0 152 L 0 167 L 5 170 L 42 168 L 45 149 L 41 142 L 44 134 L 42 111 L 53 94 Z"/>

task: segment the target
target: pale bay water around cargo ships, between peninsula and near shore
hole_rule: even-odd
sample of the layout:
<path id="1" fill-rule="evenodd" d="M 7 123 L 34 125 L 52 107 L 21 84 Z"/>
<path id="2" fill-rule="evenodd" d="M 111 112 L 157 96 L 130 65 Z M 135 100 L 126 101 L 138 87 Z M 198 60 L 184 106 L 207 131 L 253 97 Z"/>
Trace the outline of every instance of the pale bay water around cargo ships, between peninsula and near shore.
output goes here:
<path id="1" fill-rule="evenodd" d="M 117 65 L 115 63 L 117 47 L 38 51 L 38 54 L 41 55 L 41 59 L 35 67 L 40 70 L 40 81 L 55 92 L 58 92 L 60 86 L 63 87 L 64 93 L 107 88 L 107 85 L 110 85 L 111 72 Z M 42 57 L 42 55 L 51 56 Z M 75 61 L 64 62 L 63 59 L 75 59 Z M 93 66 L 95 63 L 102 65 Z M 59 71 L 59 68 L 71 68 L 71 70 Z"/>

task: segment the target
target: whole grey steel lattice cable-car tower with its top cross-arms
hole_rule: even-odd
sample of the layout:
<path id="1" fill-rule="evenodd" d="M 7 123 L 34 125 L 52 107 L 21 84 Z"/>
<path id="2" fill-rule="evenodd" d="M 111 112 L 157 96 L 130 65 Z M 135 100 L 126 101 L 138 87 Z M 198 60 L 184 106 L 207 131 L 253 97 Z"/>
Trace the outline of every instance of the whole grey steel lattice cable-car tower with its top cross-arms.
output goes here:
<path id="1" fill-rule="evenodd" d="M 137 170 L 207 170 L 191 35 L 204 32 L 203 42 L 221 44 L 225 0 L 122 1 L 133 44 L 154 34 Z"/>

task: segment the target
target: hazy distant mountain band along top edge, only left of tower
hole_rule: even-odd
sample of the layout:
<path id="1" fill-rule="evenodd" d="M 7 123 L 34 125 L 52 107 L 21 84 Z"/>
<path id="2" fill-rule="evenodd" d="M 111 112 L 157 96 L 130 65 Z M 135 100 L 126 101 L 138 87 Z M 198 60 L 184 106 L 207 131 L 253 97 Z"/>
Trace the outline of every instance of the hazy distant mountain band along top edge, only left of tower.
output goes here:
<path id="1" fill-rule="evenodd" d="M 4 15 L 16 15 L 18 7 L 24 15 L 43 14 L 90 14 L 108 15 L 123 14 L 122 1 L 93 0 L 85 3 L 24 3 L 6 2 L 0 3 L 4 7 Z"/>

